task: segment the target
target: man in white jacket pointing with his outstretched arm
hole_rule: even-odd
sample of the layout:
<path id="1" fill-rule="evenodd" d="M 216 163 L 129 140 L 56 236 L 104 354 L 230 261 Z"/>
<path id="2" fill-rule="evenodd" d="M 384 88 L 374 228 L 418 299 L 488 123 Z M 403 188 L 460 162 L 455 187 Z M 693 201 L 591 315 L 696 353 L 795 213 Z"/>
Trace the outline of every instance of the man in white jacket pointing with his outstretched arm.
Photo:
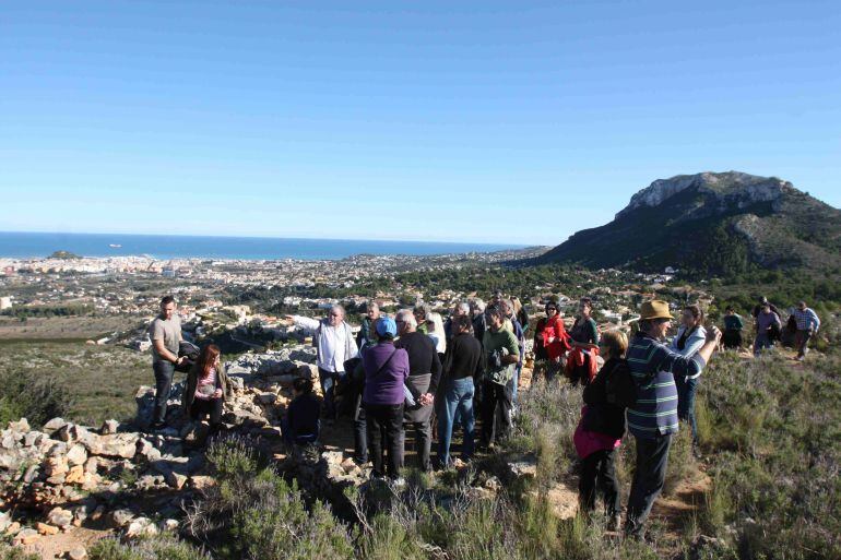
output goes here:
<path id="1" fill-rule="evenodd" d="M 316 347 L 318 378 L 324 394 L 324 413 L 329 421 L 335 420 L 335 385 L 345 377 L 344 362 L 358 354 L 353 331 L 344 320 L 344 308 L 334 305 L 327 319 L 317 321 L 309 317 L 286 315 L 297 326 L 312 332 Z"/>

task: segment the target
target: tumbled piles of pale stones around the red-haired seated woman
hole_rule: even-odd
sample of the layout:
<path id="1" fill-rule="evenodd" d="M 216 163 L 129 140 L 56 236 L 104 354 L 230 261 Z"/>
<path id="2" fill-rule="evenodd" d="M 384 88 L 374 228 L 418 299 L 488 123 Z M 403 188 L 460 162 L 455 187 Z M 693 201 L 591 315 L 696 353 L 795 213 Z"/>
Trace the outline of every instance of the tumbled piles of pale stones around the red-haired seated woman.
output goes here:
<path id="1" fill-rule="evenodd" d="M 317 378 L 315 360 L 315 349 L 300 346 L 228 364 L 234 395 L 225 403 L 226 430 L 279 443 L 292 382 Z M 177 528 L 192 492 L 214 484 L 204 460 L 208 427 L 183 414 L 183 385 L 174 384 L 168 428 L 155 433 L 146 431 L 152 388 L 138 392 L 131 424 L 107 420 L 95 429 L 54 418 L 34 429 L 25 418 L 9 422 L 0 432 L 0 535 L 27 545 L 86 522 L 129 537 Z"/>

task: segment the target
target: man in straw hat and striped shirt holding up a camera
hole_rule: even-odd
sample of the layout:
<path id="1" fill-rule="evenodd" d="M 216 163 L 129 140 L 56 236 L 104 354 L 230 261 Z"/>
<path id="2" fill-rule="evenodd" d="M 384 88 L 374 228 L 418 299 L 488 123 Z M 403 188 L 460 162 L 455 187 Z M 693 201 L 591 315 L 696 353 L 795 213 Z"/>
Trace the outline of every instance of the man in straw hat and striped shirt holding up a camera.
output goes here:
<path id="1" fill-rule="evenodd" d="M 699 373 L 709 361 L 721 331 L 707 332 L 703 346 L 682 356 L 662 343 L 672 326 L 665 301 L 645 301 L 640 308 L 640 330 L 628 346 L 628 367 L 637 385 L 637 402 L 627 410 L 628 430 L 637 440 L 637 469 L 628 498 L 625 533 L 641 537 L 642 526 L 663 489 L 672 434 L 677 433 L 675 376 Z"/>

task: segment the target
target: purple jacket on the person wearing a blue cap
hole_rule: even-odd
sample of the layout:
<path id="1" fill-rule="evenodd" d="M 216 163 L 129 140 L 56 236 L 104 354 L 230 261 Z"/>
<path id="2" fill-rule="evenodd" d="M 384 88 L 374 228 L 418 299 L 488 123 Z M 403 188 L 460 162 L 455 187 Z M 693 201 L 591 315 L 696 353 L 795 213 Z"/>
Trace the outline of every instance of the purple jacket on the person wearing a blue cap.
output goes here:
<path id="1" fill-rule="evenodd" d="M 382 367 L 391 357 L 388 366 Z M 376 346 L 366 346 L 363 350 L 365 367 L 365 391 L 363 403 L 370 405 L 399 405 L 403 402 L 403 383 L 408 376 L 408 354 L 402 348 L 394 348 L 390 342 Z M 380 368 L 382 368 L 380 370 Z"/>

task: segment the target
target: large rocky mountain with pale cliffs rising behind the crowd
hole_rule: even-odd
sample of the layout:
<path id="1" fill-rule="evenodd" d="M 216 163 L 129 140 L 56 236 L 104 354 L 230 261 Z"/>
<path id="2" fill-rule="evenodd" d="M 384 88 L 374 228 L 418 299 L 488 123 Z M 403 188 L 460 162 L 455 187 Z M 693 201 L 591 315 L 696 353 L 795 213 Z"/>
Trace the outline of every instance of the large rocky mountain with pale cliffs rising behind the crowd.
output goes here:
<path id="1" fill-rule="evenodd" d="M 841 211 L 775 177 L 680 175 L 652 182 L 613 222 L 575 234 L 537 262 L 712 274 L 751 265 L 838 273 Z"/>

